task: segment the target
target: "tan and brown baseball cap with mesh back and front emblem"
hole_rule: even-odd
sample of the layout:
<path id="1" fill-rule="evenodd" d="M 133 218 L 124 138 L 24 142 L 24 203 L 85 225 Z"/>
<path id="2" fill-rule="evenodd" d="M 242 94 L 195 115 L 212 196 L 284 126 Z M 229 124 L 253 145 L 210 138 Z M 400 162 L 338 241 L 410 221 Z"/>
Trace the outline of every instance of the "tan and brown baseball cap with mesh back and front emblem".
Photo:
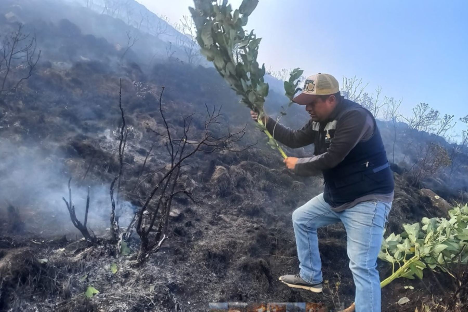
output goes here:
<path id="1" fill-rule="evenodd" d="M 310 103 L 311 95 L 329 95 L 340 91 L 338 80 L 329 74 L 318 73 L 306 78 L 302 92 L 292 101 L 299 105 Z"/>

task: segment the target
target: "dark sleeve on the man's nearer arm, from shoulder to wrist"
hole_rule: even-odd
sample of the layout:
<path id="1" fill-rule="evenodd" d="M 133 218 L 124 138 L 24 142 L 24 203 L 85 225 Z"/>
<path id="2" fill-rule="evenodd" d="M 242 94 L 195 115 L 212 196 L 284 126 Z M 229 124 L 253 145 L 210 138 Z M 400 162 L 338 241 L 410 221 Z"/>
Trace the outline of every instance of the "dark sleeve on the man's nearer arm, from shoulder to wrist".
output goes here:
<path id="1" fill-rule="evenodd" d="M 300 158 L 294 167 L 299 176 L 315 176 L 322 170 L 331 169 L 341 163 L 351 149 L 363 138 L 368 140 L 374 131 L 372 117 L 364 109 L 351 110 L 336 124 L 335 136 L 323 154 Z"/>

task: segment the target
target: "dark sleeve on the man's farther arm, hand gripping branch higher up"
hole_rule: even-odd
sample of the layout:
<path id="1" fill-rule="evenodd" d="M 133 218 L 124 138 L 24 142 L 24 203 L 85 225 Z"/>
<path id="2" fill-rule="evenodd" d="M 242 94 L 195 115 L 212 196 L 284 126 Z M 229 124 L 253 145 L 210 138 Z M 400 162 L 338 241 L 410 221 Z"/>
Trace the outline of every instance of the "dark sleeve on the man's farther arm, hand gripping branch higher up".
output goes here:
<path id="1" fill-rule="evenodd" d="M 314 129 L 312 119 L 299 130 L 287 128 L 272 118 L 268 118 L 266 128 L 275 140 L 287 147 L 297 149 L 314 143 Z"/>

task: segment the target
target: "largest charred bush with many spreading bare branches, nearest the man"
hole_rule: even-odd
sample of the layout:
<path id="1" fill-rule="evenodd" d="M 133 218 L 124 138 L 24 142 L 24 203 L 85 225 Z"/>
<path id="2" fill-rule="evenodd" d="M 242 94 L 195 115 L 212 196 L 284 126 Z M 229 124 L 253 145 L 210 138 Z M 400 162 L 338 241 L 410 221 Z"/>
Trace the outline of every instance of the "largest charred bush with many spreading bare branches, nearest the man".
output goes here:
<path id="1" fill-rule="evenodd" d="M 197 138 L 196 140 L 189 139 L 189 134 L 192 128 L 193 114 L 184 118 L 182 129 L 183 133 L 178 138 L 174 138 L 173 135 L 175 132 L 172 128 L 170 128 L 162 106 L 163 92 L 164 87 L 162 88 L 161 94 L 159 95 L 159 113 L 161 114 L 163 121 L 162 124 L 164 125 L 166 133 L 161 134 L 158 131 L 151 129 L 148 123 L 146 123 L 146 126 L 154 134 L 164 138 L 163 144 L 167 150 L 169 156 L 168 163 L 170 165 L 162 168 L 162 177 L 153 186 L 149 196 L 145 199 L 144 203 L 135 213 L 131 224 L 124 234 L 124 240 L 127 240 L 130 238 L 133 228 L 136 228 L 136 232 L 141 240 L 138 254 L 138 263 L 146 261 L 149 254 L 156 252 L 161 247 L 162 242 L 167 239 L 169 215 L 172 206 L 172 200 L 175 196 L 184 194 L 192 202 L 199 203 L 191 192 L 183 189 L 176 190 L 177 186 L 180 185 L 179 179 L 183 173 L 182 167 L 188 165 L 187 160 L 197 152 L 212 153 L 216 150 L 240 152 L 255 145 L 249 145 L 248 147 L 241 150 L 236 150 L 233 148 L 234 143 L 239 142 L 245 135 L 247 125 L 234 133 L 232 132 L 231 128 L 228 128 L 227 135 L 215 135 L 212 131 L 212 126 L 220 124 L 219 117 L 221 116 L 221 108 L 217 109 L 215 106 L 213 106 L 213 108 L 209 108 L 206 104 L 205 108 L 207 119 L 205 120 L 205 129 L 202 130 L 201 138 Z M 153 149 L 153 147 L 151 149 Z M 146 163 L 148 155 L 145 158 L 143 166 Z M 140 172 L 139 177 L 141 174 L 142 173 Z M 150 176 L 153 175 L 154 173 Z"/>

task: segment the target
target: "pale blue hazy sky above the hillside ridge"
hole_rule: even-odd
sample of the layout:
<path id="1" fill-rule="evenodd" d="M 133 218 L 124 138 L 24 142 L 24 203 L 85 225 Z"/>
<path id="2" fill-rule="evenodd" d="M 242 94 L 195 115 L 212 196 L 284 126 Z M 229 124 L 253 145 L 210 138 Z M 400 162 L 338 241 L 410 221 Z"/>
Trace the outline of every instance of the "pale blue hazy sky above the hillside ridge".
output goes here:
<path id="1" fill-rule="evenodd" d="M 192 0 L 138 0 L 178 21 Z M 233 8 L 241 0 L 230 0 Z M 409 113 L 429 103 L 457 119 L 468 114 L 467 0 L 260 0 L 248 29 L 262 37 L 259 61 L 300 67 L 341 82 L 357 76 Z"/>

